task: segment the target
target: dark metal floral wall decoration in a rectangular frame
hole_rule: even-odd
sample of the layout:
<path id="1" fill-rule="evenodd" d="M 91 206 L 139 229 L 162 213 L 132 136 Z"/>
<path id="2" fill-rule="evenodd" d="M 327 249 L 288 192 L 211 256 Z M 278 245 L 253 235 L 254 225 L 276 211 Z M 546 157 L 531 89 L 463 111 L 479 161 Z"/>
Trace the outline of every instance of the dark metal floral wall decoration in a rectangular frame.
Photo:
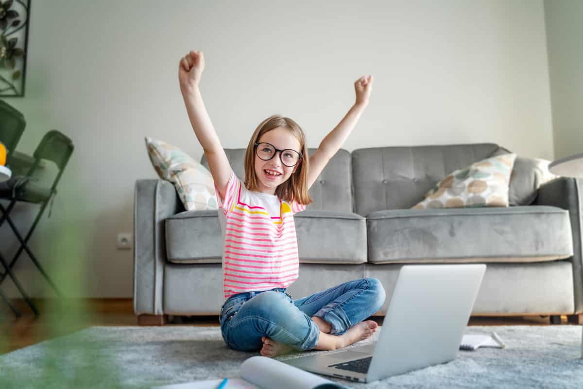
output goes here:
<path id="1" fill-rule="evenodd" d="M 31 0 L 0 0 L 0 96 L 24 97 Z"/>

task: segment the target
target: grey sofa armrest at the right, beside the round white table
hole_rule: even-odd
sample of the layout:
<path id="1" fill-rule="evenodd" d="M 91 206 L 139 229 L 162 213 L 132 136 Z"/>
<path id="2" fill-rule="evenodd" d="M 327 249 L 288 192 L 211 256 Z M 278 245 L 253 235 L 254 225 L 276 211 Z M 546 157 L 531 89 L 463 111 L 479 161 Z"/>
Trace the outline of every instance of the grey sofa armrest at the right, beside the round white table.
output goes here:
<path id="1" fill-rule="evenodd" d="M 560 177 L 539 188 L 536 205 L 551 205 L 569 211 L 571 232 L 573 233 L 573 286 L 575 294 L 575 313 L 583 311 L 583 253 L 581 247 L 581 205 L 583 180 Z"/>

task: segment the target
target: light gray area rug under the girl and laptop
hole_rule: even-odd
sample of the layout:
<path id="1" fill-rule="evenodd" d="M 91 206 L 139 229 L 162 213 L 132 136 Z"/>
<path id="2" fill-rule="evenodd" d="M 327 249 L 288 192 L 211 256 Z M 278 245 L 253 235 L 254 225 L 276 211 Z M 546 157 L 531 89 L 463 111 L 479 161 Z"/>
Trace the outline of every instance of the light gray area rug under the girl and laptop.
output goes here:
<path id="1" fill-rule="evenodd" d="M 352 346 L 375 341 L 380 331 Z M 368 384 L 331 380 L 353 388 L 583 387 L 581 327 L 468 327 L 465 334 L 491 331 L 506 349 L 460 351 L 444 365 Z M 254 355 L 227 348 L 219 327 L 92 327 L 0 355 L 0 388 L 144 388 L 236 378 Z"/>

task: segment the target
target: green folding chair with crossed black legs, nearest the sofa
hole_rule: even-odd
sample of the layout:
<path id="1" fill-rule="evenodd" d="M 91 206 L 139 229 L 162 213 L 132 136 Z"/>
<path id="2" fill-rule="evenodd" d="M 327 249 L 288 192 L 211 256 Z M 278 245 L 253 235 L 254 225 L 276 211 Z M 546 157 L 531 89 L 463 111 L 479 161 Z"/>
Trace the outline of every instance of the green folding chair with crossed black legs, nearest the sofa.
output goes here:
<path id="1" fill-rule="evenodd" d="M 30 166 L 30 169 L 27 171 L 25 176 L 15 176 L 10 178 L 8 181 L 8 185 L 5 188 L 0 189 L 0 199 L 7 199 L 10 201 L 8 208 L 4 208 L 0 204 L 0 227 L 2 226 L 3 222 L 6 220 L 10 227 L 12 228 L 13 232 L 15 233 L 17 239 L 20 242 L 20 247 L 16 251 L 14 258 L 10 261 L 8 265 L 7 271 L 0 275 L 0 285 L 6 279 L 6 276 L 9 275 L 9 272 L 12 271 L 12 268 L 16 264 L 16 261 L 19 259 L 20 254 L 22 251 L 26 251 L 29 254 L 30 259 L 33 261 L 34 265 L 37 267 L 38 271 L 41 272 L 44 279 L 47 280 L 49 285 L 51 285 L 52 289 L 55 290 L 55 293 L 59 297 L 61 297 L 61 293 L 57 289 L 57 286 L 54 282 L 52 282 L 51 278 L 48 276 L 47 272 L 43 269 L 40 262 L 37 260 L 36 256 L 30 250 L 28 246 L 28 242 L 30 237 L 32 236 L 34 229 L 41 218 L 47 205 L 51 202 L 51 199 L 54 199 L 55 195 L 57 194 L 57 184 L 61 180 L 61 176 L 65 170 L 67 163 L 69 162 L 69 158 L 73 153 L 73 142 L 67 136 L 62 134 L 61 132 L 53 129 L 41 139 L 40 143 L 38 144 L 36 150 L 34 151 L 34 162 Z M 52 184 L 49 186 L 38 184 L 33 177 L 40 177 L 43 175 L 42 169 L 40 169 L 39 173 L 39 164 L 41 160 L 49 160 L 54 162 L 57 165 L 58 173 L 52 181 Z M 17 202 L 28 202 L 31 204 L 38 204 L 40 205 L 40 210 L 38 211 L 38 215 L 34 219 L 33 225 L 30 227 L 29 232 L 26 234 L 26 237 L 22 237 L 19 230 L 16 228 L 15 224 L 13 223 L 12 219 L 10 219 L 10 211 L 14 208 Z M 49 216 L 51 212 L 49 211 Z M 29 304 L 30 305 L 30 304 Z M 33 311 L 38 314 L 38 310 L 36 308 Z"/>

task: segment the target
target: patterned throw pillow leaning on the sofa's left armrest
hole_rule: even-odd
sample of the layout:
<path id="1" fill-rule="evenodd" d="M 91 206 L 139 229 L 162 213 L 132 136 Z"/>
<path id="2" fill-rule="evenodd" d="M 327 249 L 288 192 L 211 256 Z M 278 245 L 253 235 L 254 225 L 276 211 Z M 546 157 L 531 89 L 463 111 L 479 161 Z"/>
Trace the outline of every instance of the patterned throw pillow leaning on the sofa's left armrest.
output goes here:
<path id="1" fill-rule="evenodd" d="M 218 209 L 215 181 L 210 171 L 169 143 L 146 136 L 147 154 L 163 180 L 174 184 L 187 211 Z"/>

